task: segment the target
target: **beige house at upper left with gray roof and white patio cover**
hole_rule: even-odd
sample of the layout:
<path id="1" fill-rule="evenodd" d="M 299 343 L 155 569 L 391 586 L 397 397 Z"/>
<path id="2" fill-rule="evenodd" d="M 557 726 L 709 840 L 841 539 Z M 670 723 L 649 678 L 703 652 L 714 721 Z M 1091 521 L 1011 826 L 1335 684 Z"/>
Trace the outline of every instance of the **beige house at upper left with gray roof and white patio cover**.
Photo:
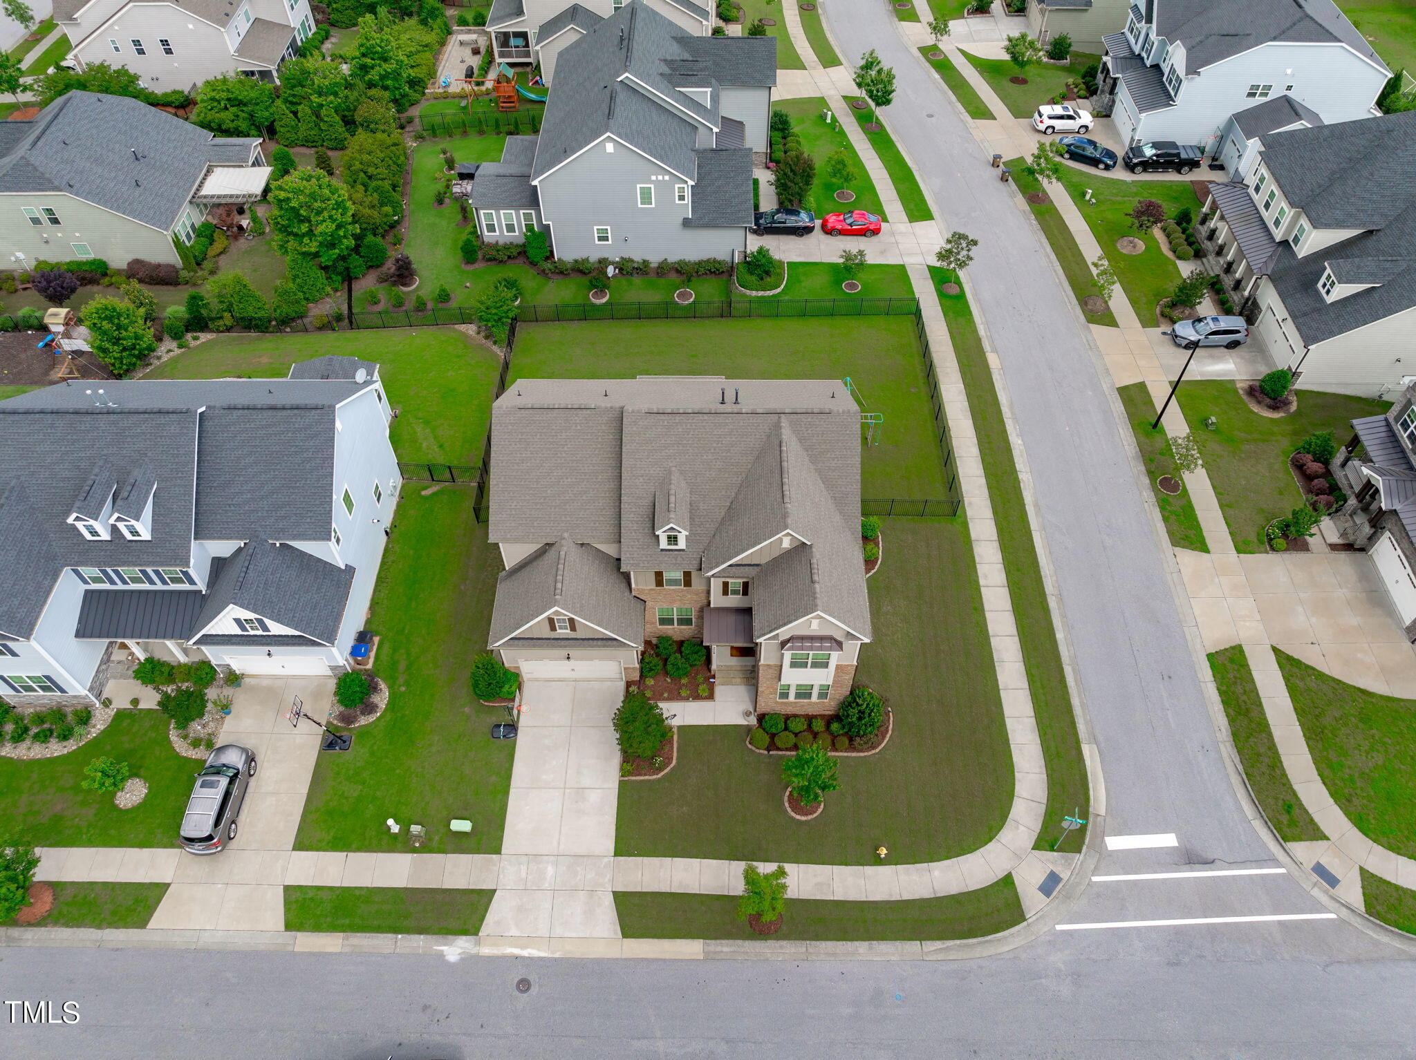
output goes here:
<path id="1" fill-rule="evenodd" d="M 0 122 L 0 253 L 180 265 L 219 202 L 253 202 L 270 168 L 259 139 L 212 136 L 127 96 L 69 92 L 28 122 Z M 3 260 L 3 259 L 0 259 Z"/>

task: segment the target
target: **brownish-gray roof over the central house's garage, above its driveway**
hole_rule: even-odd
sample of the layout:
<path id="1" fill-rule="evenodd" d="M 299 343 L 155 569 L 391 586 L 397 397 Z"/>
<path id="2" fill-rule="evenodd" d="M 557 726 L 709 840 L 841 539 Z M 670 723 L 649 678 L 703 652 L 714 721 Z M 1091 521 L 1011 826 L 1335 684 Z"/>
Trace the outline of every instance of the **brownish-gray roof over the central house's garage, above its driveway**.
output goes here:
<path id="1" fill-rule="evenodd" d="M 615 558 L 593 545 L 578 545 L 569 535 L 538 548 L 497 577 L 491 610 L 490 647 L 525 630 L 547 611 L 559 610 L 579 620 L 576 634 L 595 637 L 595 626 L 639 647 L 644 640 L 644 601 L 629 587 Z M 544 631 L 527 630 L 528 634 Z M 548 638 L 552 640 L 552 638 Z M 566 647 L 575 640 L 561 641 Z"/>

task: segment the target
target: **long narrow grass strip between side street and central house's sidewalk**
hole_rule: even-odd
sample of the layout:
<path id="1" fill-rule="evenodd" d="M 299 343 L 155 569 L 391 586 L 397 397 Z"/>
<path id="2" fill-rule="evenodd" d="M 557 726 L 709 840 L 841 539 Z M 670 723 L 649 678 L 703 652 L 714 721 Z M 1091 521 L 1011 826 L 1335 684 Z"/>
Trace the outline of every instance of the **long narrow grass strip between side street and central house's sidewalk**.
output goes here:
<path id="1" fill-rule="evenodd" d="M 947 279 L 947 273 L 930 266 L 935 289 Z M 1078 808 L 1090 805 L 1086 761 L 1082 757 L 1082 743 L 1076 730 L 1076 715 L 1072 710 L 1072 695 L 1068 692 L 1066 674 L 1062 669 L 1062 651 L 1058 647 L 1056 628 L 1052 624 L 1052 610 L 1048 604 L 1046 586 L 1042 582 L 1042 568 L 1038 562 L 1028 509 L 1018 485 L 1017 464 L 1012 460 L 1012 446 L 1008 442 L 1003 420 L 1003 406 L 993 381 L 993 372 L 984 354 L 978 328 L 964 294 L 940 294 L 940 309 L 949 324 L 949 335 L 954 344 L 954 357 L 969 391 L 969 412 L 974 422 L 974 434 L 983 457 L 984 474 L 988 480 L 988 500 L 993 504 L 994 524 L 998 528 L 998 546 L 1003 551 L 1003 565 L 1008 575 L 1008 594 L 1012 600 L 1012 614 L 1018 624 L 1018 638 L 1022 644 L 1022 662 L 1028 671 L 1028 689 L 1032 693 L 1032 710 L 1038 720 L 1042 753 L 1048 768 L 1046 824 L 1038 836 L 1038 848 L 1052 849 L 1056 834 L 1049 831 L 1063 815 L 1075 814 Z M 1066 834 L 1058 848 L 1080 851 L 1085 829 Z"/>

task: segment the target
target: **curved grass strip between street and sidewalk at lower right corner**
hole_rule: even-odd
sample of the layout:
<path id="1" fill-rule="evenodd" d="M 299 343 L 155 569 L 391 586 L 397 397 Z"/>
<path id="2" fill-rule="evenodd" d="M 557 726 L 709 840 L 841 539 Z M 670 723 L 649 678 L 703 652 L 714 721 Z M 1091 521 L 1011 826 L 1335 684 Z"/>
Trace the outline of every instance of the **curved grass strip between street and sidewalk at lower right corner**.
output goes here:
<path id="1" fill-rule="evenodd" d="M 1239 753 L 1249 790 L 1253 791 L 1273 831 L 1289 843 L 1327 838 L 1303 805 L 1298 793 L 1293 790 L 1293 781 L 1283 768 L 1279 744 L 1273 742 L 1273 730 L 1263 712 L 1259 686 L 1253 682 L 1253 671 L 1249 669 L 1243 645 L 1236 644 L 1212 652 L 1209 669 L 1215 675 L 1219 702 L 1225 706 L 1229 734 Z"/>

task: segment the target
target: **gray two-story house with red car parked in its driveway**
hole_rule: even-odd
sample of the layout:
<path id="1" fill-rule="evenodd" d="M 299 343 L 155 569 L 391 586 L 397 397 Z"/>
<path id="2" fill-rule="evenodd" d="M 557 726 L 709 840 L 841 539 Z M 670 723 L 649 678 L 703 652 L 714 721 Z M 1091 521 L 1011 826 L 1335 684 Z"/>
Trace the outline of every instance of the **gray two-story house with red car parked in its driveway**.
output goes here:
<path id="1" fill-rule="evenodd" d="M 490 242 L 544 231 L 556 258 L 729 258 L 752 225 L 776 38 L 695 37 L 632 0 L 559 52 L 539 136 L 477 170 Z"/>

